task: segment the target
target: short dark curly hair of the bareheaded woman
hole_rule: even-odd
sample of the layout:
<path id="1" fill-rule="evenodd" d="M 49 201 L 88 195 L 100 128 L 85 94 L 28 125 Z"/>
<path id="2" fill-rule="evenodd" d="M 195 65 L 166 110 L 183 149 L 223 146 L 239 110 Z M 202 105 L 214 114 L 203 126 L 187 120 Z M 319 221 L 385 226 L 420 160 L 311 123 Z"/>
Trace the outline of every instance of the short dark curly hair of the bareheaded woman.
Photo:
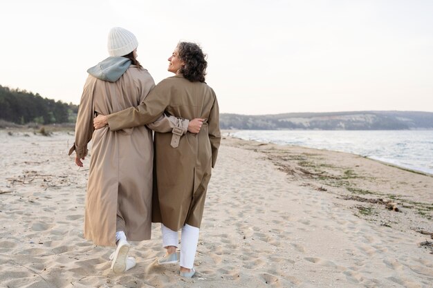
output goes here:
<path id="1" fill-rule="evenodd" d="M 179 42 L 177 48 L 179 58 L 185 63 L 179 72 L 192 82 L 204 82 L 208 62 L 205 59 L 207 55 L 203 54 L 200 46 L 191 42 Z"/>

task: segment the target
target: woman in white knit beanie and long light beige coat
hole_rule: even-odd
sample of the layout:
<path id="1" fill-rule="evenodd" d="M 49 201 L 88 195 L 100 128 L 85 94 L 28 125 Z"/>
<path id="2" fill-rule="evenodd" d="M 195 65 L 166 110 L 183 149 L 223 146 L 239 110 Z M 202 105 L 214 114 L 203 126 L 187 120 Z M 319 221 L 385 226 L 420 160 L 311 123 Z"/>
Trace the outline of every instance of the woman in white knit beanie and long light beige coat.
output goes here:
<path id="1" fill-rule="evenodd" d="M 116 273 L 136 265 L 128 257 L 128 240 L 149 240 L 151 236 L 151 195 L 153 141 L 149 128 L 186 133 L 189 121 L 163 115 L 153 124 L 110 131 L 95 131 L 93 117 L 138 106 L 154 88 L 154 79 L 137 61 L 136 37 L 120 27 L 108 37 L 110 57 L 89 68 L 75 126 L 75 164 L 82 167 L 92 140 L 89 181 L 84 217 L 84 237 L 94 244 L 115 246 L 111 269 Z M 194 122 L 192 122 L 194 123 Z M 199 122 L 190 127 L 198 132 Z"/>

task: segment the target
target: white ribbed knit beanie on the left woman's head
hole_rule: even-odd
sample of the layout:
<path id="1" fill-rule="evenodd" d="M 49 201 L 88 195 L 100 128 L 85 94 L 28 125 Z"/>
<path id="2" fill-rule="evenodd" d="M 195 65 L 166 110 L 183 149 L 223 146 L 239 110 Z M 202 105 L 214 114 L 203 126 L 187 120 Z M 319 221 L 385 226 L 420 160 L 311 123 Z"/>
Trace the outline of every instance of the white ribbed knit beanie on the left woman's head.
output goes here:
<path id="1" fill-rule="evenodd" d="M 128 30 L 114 27 L 109 32 L 107 47 L 110 56 L 124 56 L 138 47 L 138 41 Z"/>

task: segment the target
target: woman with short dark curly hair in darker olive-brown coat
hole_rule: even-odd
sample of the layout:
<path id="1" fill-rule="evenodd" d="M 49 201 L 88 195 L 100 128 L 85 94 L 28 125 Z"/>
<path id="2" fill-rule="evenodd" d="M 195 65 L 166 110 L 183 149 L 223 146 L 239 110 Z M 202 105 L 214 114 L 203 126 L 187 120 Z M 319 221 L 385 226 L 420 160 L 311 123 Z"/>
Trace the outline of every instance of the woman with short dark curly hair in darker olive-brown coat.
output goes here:
<path id="1" fill-rule="evenodd" d="M 168 61 L 167 70 L 175 75 L 160 81 L 144 102 L 136 108 L 99 115 L 93 124 L 97 129 L 108 124 L 111 131 L 117 131 L 154 122 L 163 113 L 203 119 L 198 134 L 180 137 L 181 133 L 176 135 L 174 128 L 174 135 L 158 132 L 154 135 L 156 180 L 152 222 L 161 223 L 163 247 L 167 249 L 158 263 L 180 260 L 181 276 L 190 278 L 195 273 L 193 265 L 206 190 L 221 141 L 219 108 L 214 90 L 205 83 L 208 63 L 197 44 L 180 42 Z M 176 253 L 179 230 L 180 256 Z"/>

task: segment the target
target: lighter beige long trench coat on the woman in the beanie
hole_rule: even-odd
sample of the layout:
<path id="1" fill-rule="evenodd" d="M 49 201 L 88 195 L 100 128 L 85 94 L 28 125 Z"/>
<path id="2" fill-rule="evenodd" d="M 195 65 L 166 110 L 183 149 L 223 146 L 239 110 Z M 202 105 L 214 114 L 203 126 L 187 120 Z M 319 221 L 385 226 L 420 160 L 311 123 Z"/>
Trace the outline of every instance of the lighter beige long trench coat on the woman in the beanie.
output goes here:
<path id="1" fill-rule="evenodd" d="M 110 114 L 138 106 L 154 88 L 147 70 L 131 65 L 116 82 L 102 81 L 91 75 L 86 80 L 75 126 L 75 150 L 87 155 L 92 140 L 84 215 L 84 237 L 95 244 L 114 246 L 116 211 L 125 220 L 128 240 L 151 237 L 151 195 L 153 142 L 146 126 L 110 131 L 94 131 L 95 113 Z M 151 128 L 172 131 L 176 117 L 161 117 Z M 170 133 L 171 134 L 171 133 Z"/>

